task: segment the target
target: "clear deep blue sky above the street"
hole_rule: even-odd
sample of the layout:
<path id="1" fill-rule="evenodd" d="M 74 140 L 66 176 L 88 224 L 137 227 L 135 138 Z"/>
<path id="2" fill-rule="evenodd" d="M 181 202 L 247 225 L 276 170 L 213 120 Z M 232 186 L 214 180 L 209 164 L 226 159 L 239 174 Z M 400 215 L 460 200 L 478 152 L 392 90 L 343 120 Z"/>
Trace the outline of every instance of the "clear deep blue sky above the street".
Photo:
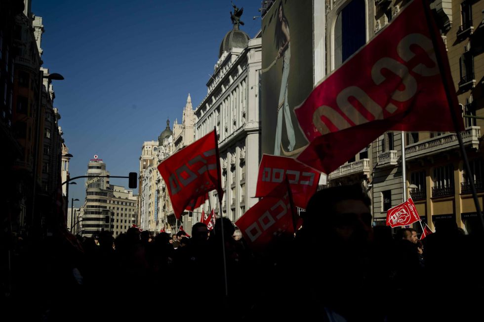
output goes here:
<path id="1" fill-rule="evenodd" d="M 235 1 L 250 37 L 260 3 Z M 113 176 L 139 171 L 142 143 L 158 139 L 166 117 L 181 121 L 188 93 L 194 108 L 205 97 L 231 10 L 230 0 L 33 0 L 45 29 L 43 67 L 65 77 L 54 81 L 54 106 L 74 155 L 71 177 L 84 175 L 94 154 Z M 69 197 L 83 200 L 84 180 L 77 183 Z M 127 187 L 127 179 L 111 183 Z"/>

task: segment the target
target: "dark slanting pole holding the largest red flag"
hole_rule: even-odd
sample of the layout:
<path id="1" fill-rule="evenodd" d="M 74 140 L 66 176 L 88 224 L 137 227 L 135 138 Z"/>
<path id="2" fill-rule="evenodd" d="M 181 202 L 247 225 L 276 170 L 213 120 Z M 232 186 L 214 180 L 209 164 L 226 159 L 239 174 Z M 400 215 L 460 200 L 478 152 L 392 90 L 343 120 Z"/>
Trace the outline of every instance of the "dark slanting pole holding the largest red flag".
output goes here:
<path id="1" fill-rule="evenodd" d="M 453 108 L 453 102 L 452 102 L 452 98 L 450 95 L 452 94 L 455 94 L 455 89 L 452 88 L 453 86 L 449 86 L 448 84 L 448 77 L 445 77 L 446 73 L 445 73 L 445 70 L 444 70 L 444 66 L 442 65 L 443 63 L 443 58 L 442 58 L 442 55 L 441 55 L 441 52 L 439 50 L 441 44 L 438 43 L 438 39 L 435 35 L 435 29 L 434 29 L 434 26 L 432 25 L 432 17 L 430 15 L 430 4 L 428 1 L 422 1 L 422 5 L 424 6 L 424 12 L 425 12 L 425 18 L 427 20 L 427 25 L 429 27 L 429 32 L 430 32 L 430 35 L 431 35 L 431 38 L 432 38 L 432 44 L 435 48 L 435 56 L 437 58 L 437 65 L 439 66 L 439 72 L 441 73 L 441 76 L 443 77 L 443 85 L 444 85 L 444 91 L 445 91 L 445 96 L 447 98 L 447 102 L 449 104 L 449 109 L 450 109 L 450 116 L 452 117 L 452 123 L 454 125 L 454 128 L 455 128 L 455 133 L 457 134 L 457 140 L 459 141 L 459 147 L 460 147 L 460 151 L 462 153 L 462 157 L 464 159 L 464 166 L 465 166 L 465 169 L 467 171 L 467 173 L 470 175 L 472 172 L 471 172 L 471 167 L 469 166 L 469 160 L 467 158 L 467 152 L 466 152 L 466 149 L 464 147 L 464 143 L 462 142 L 462 137 L 461 137 L 461 134 L 459 132 L 459 123 L 457 121 L 457 115 L 455 113 L 455 110 Z M 451 90 L 452 90 L 452 94 L 451 94 Z M 481 219 L 481 224 L 483 226 L 483 229 L 484 229 L 484 218 L 483 218 L 483 214 L 482 214 L 482 211 L 481 211 L 481 205 L 479 204 L 479 199 L 477 197 L 477 190 L 476 190 L 476 185 L 474 184 L 474 180 L 469 180 L 469 183 L 471 184 L 471 191 L 472 191 L 472 197 L 474 199 L 474 205 L 476 206 L 476 212 L 477 212 L 477 215 L 479 216 L 479 218 Z"/>

